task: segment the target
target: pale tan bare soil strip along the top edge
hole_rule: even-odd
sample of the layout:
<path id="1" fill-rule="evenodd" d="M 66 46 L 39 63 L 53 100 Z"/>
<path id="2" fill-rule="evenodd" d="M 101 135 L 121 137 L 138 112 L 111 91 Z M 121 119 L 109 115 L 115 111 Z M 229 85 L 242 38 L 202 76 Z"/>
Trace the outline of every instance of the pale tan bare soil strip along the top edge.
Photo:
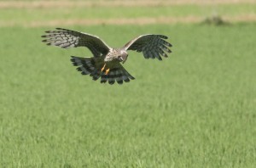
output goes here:
<path id="1" fill-rule="evenodd" d="M 183 4 L 256 3 L 255 0 L 112 0 L 112 1 L 1 1 L 0 8 L 135 7 Z"/>

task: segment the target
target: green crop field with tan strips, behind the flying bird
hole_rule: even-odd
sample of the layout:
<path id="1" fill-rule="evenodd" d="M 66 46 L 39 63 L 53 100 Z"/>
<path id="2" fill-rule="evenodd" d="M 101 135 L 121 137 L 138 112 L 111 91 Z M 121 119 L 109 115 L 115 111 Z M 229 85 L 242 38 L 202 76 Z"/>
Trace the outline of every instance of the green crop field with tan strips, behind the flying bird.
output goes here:
<path id="1" fill-rule="evenodd" d="M 0 1 L 0 167 L 255 167 L 256 2 L 14 2 Z M 41 42 L 55 27 L 111 47 L 163 34 L 172 53 L 129 51 L 136 79 L 101 84 L 69 60 L 87 48 Z"/>

